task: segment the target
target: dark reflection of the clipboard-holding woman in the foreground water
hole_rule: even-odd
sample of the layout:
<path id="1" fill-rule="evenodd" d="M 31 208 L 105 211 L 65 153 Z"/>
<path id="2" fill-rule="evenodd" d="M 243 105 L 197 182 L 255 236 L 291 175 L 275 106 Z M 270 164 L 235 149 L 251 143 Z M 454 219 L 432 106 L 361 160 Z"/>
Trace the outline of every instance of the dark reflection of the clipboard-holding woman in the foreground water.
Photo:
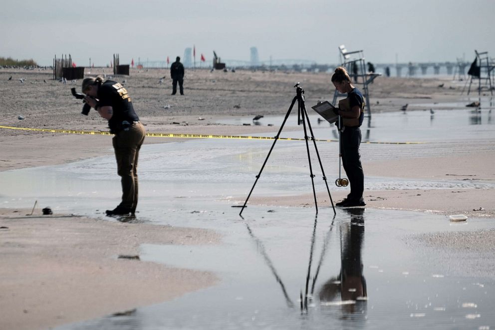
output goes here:
<path id="1" fill-rule="evenodd" d="M 361 251 L 364 241 L 364 208 L 344 209 L 351 216 L 350 223 L 340 227 L 340 274 L 330 278 L 319 292 L 322 305 L 338 302 L 347 314 L 366 313 L 366 280 L 363 275 Z"/>

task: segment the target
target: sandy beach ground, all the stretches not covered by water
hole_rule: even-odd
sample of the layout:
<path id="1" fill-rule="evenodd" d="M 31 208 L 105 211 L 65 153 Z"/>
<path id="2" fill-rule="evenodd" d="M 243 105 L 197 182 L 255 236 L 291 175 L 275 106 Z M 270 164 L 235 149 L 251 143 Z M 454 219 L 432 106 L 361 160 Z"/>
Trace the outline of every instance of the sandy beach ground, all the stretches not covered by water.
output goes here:
<path id="1" fill-rule="evenodd" d="M 86 69 L 86 75 L 110 74 L 110 69 Z M 133 104 L 148 133 L 245 134 L 273 132 L 277 126 L 218 124 L 222 118 L 283 115 L 293 97 L 293 84 L 301 82 L 306 103 L 330 99 L 328 73 L 210 72 L 188 70 L 185 96 L 171 96 L 171 81 L 159 78 L 164 69 L 131 70 L 127 80 Z M 12 76 L 9 81 L 8 77 Z M 20 78 L 26 78 L 24 83 Z M 80 114 L 82 103 L 70 95 L 80 91 L 81 81 L 62 84 L 51 71 L 0 70 L 0 125 L 26 128 L 107 131 L 94 111 Z M 444 87 L 438 87 L 440 84 Z M 450 78 L 379 77 L 370 86 L 372 112 L 397 111 L 406 103 L 465 102 L 464 82 Z M 441 108 L 442 106 L 440 106 Z M 448 106 L 446 106 L 448 107 Z M 410 107 L 411 108 L 411 107 Z M 410 111 L 426 108 L 413 107 Z M 24 119 L 18 119 L 22 116 Z M 64 164 L 112 155 L 109 136 L 59 134 L 0 128 L 0 171 Z M 145 144 L 178 141 L 146 138 Z M 411 156 L 364 157 L 365 176 L 429 180 L 495 180 L 495 135 L 483 141 L 456 144 L 442 153 Z M 476 144 L 476 146 L 475 146 Z M 425 156 L 426 155 L 426 156 Z M 117 177 L 116 177 L 117 180 Z M 344 192 L 332 194 L 334 202 Z M 328 196 L 327 196 L 328 197 Z M 493 189 L 368 190 L 369 208 L 414 210 L 438 214 L 495 217 Z M 318 195 L 325 202 L 324 194 Z M 312 194 L 301 196 L 253 196 L 251 204 L 307 207 Z M 118 259 L 137 255 L 139 246 L 153 244 L 221 244 L 222 237 L 202 229 L 151 224 L 127 224 L 75 216 L 33 216 L 26 209 L 0 209 L 0 309 L 2 329 L 46 329 L 96 318 L 138 306 L 151 305 L 184 293 L 214 285 L 215 274 L 174 269 L 149 262 Z M 48 272 L 49 270 L 49 272 Z M 116 292 L 125 291 L 115 299 Z M 97 301 L 95 294 L 99 293 Z M 72 299 L 65 299 L 73 297 Z M 82 308 L 84 307 L 84 308 Z"/>

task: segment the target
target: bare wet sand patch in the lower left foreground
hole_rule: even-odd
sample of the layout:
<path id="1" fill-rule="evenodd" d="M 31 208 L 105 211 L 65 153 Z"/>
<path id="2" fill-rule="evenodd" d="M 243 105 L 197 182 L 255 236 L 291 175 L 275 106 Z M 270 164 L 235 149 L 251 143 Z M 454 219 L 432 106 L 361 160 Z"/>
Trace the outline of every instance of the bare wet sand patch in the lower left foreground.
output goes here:
<path id="1" fill-rule="evenodd" d="M 0 209 L 1 329 L 47 329 L 160 303 L 214 285 L 208 272 L 169 268 L 139 256 L 142 244 L 209 245 L 201 229 Z"/>

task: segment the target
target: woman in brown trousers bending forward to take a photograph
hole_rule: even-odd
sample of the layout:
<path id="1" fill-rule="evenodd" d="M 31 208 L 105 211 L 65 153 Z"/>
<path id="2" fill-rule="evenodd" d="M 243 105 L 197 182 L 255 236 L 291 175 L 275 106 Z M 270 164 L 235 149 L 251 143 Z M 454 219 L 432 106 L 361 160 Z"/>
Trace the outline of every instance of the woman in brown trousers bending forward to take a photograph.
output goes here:
<path id="1" fill-rule="evenodd" d="M 138 157 L 146 135 L 143 124 L 134 111 L 127 90 L 118 82 L 105 80 L 101 76 L 88 77 L 82 81 L 84 100 L 98 114 L 108 120 L 117 173 L 121 177 L 122 201 L 107 216 L 134 215 L 138 203 Z"/>

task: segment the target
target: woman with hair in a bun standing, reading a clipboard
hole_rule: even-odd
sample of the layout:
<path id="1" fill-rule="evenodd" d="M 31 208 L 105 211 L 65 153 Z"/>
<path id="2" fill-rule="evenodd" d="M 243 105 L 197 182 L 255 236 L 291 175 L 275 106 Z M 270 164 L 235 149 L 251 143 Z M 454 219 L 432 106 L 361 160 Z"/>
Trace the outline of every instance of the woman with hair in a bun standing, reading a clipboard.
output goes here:
<path id="1" fill-rule="evenodd" d="M 332 83 L 340 93 L 347 93 L 347 98 L 339 101 L 338 114 L 342 118 L 338 125 L 340 131 L 340 151 L 342 165 L 349 178 L 351 192 L 336 206 L 365 206 L 363 199 L 364 172 L 361 165 L 359 145 L 361 144 L 361 124 L 364 119 L 363 94 L 351 83 L 346 69 L 339 66 L 332 75 Z"/>

